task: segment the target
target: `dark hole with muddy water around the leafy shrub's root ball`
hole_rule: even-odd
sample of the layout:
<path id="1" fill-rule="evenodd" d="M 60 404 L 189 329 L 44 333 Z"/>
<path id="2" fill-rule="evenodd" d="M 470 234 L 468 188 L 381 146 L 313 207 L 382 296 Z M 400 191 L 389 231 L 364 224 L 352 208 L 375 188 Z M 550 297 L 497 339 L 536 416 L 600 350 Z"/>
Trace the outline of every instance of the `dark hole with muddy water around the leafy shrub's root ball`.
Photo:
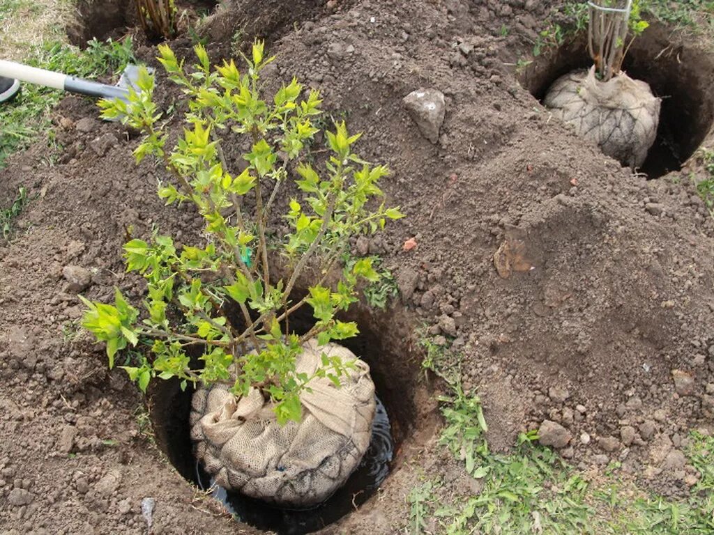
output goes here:
<path id="1" fill-rule="evenodd" d="M 426 424 L 428 418 L 419 414 L 420 409 L 414 401 L 420 372 L 418 364 L 411 364 L 418 360 L 410 358 L 406 342 L 408 327 L 404 325 L 405 332 L 396 328 L 385 330 L 387 314 L 378 316 L 359 306 L 341 317 L 358 322 L 360 334 L 341 340 L 341 345 L 370 365 L 378 397 L 370 446 L 358 469 L 329 499 L 311 509 L 280 508 L 233 491 L 226 492 L 220 487 L 214 488 L 213 496 L 222 501 L 238 521 L 275 531 L 278 535 L 318 531 L 368 501 L 388 474 L 401 465 L 404 444 L 418 424 Z M 310 307 L 303 307 L 291 315 L 291 329 L 306 332 L 313 321 Z M 212 481 L 193 456 L 188 423 L 191 395 L 190 388 L 181 392 L 178 380 L 156 380 L 150 387 L 149 410 L 161 450 L 185 479 L 208 490 Z"/>

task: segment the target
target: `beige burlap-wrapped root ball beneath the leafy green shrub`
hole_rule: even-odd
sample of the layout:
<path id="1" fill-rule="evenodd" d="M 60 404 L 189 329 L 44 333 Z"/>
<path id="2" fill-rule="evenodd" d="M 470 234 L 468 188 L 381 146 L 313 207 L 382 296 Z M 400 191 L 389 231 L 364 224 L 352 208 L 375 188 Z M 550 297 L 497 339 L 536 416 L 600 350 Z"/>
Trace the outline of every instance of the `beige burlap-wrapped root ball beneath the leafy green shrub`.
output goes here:
<path id="1" fill-rule="evenodd" d="M 278 424 L 255 388 L 241 399 L 224 383 L 194 392 L 194 451 L 224 488 L 281 506 L 311 506 L 344 484 L 367 451 L 376 407 L 369 366 L 340 345 L 309 340 L 303 348 L 298 373 L 313 374 L 323 353 L 355 360 L 356 367 L 341 378 L 341 388 L 313 379 L 311 392 L 301 394 L 299 423 Z"/>

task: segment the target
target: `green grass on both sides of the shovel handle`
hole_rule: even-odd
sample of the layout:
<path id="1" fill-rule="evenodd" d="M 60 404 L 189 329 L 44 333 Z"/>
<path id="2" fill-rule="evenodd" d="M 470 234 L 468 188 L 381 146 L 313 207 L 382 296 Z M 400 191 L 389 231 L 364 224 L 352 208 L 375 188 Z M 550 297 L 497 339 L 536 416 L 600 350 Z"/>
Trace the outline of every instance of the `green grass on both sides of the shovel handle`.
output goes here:
<path id="1" fill-rule="evenodd" d="M 35 49 L 26 60 L 31 66 L 50 71 L 96 78 L 124 69 L 126 63 L 134 60 L 131 39 L 101 43 L 89 41 L 85 50 L 61 42 L 46 44 Z M 0 168 L 6 165 L 7 157 L 24 148 L 36 139 L 39 133 L 51 126 L 50 111 L 60 101 L 64 93 L 54 89 L 24 83 L 17 98 L 0 106 Z"/>

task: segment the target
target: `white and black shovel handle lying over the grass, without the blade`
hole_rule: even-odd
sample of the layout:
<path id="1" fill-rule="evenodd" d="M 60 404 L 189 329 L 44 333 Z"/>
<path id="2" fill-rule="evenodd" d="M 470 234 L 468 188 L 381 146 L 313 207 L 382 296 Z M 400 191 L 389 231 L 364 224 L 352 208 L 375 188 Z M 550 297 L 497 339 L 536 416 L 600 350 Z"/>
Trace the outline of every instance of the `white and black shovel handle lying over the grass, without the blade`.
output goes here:
<path id="1" fill-rule="evenodd" d="M 16 78 L 19 81 L 36 83 L 40 86 L 79 93 L 80 95 L 101 98 L 126 98 L 129 96 L 129 91 L 121 87 L 108 86 L 106 83 L 84 80 L 76 76 L 46 71 L 44 68 L 31 67 L 2 59 L 0 59 L 0 76 Z"/>

